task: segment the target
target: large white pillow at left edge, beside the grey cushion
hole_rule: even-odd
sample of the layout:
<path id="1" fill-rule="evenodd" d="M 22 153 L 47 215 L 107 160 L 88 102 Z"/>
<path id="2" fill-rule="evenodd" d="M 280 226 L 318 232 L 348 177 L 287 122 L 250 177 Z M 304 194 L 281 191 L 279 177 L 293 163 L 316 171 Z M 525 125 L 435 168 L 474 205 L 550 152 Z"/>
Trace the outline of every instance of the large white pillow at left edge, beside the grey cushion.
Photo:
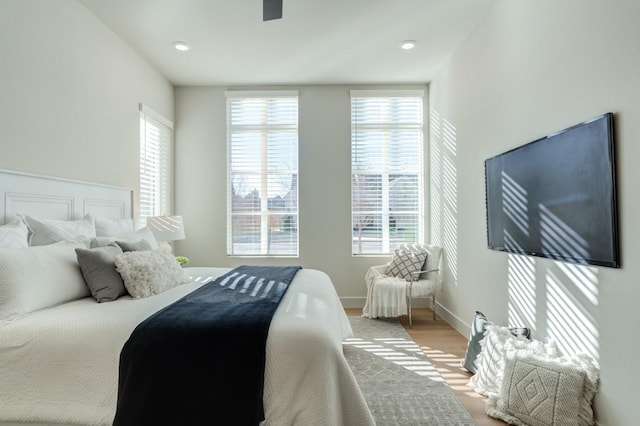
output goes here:
<path id="1" fill-rule="evenodd" d="M 89 296 L 76 248 L 86 244 L 0 249 L 0 321 Z"/>

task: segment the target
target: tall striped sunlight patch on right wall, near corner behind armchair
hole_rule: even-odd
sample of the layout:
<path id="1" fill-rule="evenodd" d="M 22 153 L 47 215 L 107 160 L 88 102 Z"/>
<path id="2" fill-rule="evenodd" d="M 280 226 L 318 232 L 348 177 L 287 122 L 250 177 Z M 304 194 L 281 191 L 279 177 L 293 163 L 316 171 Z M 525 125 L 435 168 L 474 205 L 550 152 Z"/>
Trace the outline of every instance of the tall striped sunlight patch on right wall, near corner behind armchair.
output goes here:
<path id="1" fill-rule="evenodd" d="M 443 248 L 447 283 L 458 284 L 458 179 L 456 128 L 440 114 L 429 111 L 429 194 L 431 243 Z"/>

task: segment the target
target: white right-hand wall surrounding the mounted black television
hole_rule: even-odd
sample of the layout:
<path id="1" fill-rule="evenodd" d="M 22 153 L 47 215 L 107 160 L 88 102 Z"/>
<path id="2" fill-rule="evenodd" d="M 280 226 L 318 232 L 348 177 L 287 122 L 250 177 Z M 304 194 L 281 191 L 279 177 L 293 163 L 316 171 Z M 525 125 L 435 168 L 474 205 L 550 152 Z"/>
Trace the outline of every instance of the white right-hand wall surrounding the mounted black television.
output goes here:
<path id="1" fill-rule="evenodd" d="M 432 236 L 445 246 L 441 312 L 526 325 L 601 367 L 602 425 L 637 424 L 640 382 L 640 4 L 503 1 L 430 85 Z M 484 159 L 615 113 L 622 268 L 486 248 Z"/>

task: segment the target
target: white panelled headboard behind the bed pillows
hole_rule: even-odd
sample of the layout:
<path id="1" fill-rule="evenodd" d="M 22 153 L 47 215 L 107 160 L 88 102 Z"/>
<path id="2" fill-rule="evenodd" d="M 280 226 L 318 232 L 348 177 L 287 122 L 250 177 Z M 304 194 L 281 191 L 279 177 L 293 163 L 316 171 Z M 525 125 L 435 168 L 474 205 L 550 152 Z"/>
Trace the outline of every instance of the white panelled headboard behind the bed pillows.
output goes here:
<path id="1" fill-rule="evenodd" d="M 77 220 L 133 218 L 133 190 L 0 169 L 0 224 L 16 214 Z"/>

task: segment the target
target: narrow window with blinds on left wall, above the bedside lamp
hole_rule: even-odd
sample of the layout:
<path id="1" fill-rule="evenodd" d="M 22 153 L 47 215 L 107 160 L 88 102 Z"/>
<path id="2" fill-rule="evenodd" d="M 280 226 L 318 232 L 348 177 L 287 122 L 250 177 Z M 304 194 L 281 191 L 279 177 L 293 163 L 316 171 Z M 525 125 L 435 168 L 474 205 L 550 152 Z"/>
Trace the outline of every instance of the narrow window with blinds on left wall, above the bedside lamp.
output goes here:
<path id="1" fill-rule="evenodd" d="M 173 123 L 140 104 L 140 225 L 170 214 Z"/>

